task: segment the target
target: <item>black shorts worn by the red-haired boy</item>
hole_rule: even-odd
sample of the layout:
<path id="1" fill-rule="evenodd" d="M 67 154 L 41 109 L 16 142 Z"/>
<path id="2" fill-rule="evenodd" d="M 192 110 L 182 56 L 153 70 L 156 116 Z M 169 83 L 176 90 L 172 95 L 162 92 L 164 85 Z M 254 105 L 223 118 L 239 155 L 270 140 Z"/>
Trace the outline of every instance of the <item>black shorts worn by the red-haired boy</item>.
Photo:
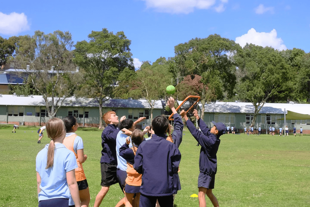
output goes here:
<path id="1" fill-rule="evenodd" d="M 101 186 L 109 187 L 118 182 L 116 176 L 117 164 L 100 163 Z"/>

